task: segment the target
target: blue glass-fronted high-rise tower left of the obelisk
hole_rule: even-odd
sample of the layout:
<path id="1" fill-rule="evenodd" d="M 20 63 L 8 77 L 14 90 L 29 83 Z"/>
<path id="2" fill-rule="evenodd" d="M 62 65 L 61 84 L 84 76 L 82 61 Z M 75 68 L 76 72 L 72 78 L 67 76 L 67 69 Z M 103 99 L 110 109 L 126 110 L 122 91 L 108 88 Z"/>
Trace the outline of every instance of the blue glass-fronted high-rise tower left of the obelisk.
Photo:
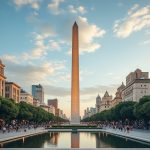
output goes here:
<path id="1" fill-rule="evenodd" d="M 44 103 L 44 88 L 41 84 L 32 85 L 32 96 L 38 99 L 41 104 Z"/>

